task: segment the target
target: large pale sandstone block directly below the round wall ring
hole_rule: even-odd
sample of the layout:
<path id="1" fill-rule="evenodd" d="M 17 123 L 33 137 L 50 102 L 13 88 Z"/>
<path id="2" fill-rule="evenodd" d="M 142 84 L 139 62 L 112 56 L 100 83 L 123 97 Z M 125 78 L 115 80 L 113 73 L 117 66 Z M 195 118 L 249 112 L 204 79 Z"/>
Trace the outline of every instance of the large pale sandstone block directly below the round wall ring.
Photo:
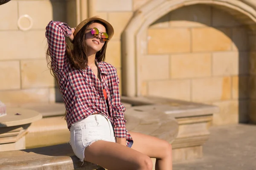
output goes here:
<path id="1" fill-rule="evenodd" d="M 0 31 L 0 60 L 45 59 L 47 40 L 45 31 Z M 11 44 L 11 45 L 10 45 Z"/>

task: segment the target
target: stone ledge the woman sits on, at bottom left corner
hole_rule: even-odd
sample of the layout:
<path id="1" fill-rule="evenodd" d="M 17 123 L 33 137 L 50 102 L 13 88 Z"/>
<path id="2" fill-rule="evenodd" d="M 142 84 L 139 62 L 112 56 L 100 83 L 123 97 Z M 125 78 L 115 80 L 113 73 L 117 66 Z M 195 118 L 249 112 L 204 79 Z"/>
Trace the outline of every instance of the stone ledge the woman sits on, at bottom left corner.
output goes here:
<path id="1" fill-rule="evenodd" d="M 70 144 L 0 152 L 0 158 L 4 170 L 105 170 L 87 161 L 82 165 Z"/>

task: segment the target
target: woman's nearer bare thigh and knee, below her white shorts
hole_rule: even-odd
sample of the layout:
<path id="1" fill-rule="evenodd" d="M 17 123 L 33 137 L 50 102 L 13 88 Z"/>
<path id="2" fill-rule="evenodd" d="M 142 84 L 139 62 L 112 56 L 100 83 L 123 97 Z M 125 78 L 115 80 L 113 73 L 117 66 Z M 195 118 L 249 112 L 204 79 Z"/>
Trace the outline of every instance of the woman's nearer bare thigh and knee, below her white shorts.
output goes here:
<path id="1" fill-rule="evenodd" d="M 108 170 L 152 170 L 151 159 L 121 144 L 97 141 L 84 150 L 85 160 Z"/>

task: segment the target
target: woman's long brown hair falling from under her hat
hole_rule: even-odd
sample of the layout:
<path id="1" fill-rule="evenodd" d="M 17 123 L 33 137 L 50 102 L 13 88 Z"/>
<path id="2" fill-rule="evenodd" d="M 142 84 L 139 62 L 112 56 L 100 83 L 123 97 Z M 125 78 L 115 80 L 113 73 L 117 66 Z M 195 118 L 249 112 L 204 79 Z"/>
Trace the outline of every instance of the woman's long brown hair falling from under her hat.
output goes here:
<path id="1" fill-rule="evenodd" d="M 71 44 L 71 48 L 66 43 L 67 59 L 68 59 L 68 62 L 70 63 L 70 66 L 73 69 L 80 70 L 80 69 L 85 69 L 88 66 L 87 46 L 85 44 L 85 39 L 86 39 L 85 38 L 85 30 L 92 23 L 102 24 L 106 28 L 106 32 L 108 33 L 108 27 L 104 23 L 102 23 L 99 20 L 94 20 L 94 21 L 90 21 L 87 24 L 85 24 L 81 28 L 81 30 L 76 34 L 76 37 L 74 37 L 74 40 Z M 96 53 L 95 58 L 97 59 L 98 62 L 105 61 L 107 45 L 108 45 L 108 41 L 105 41 L 102 49 Z M 56 79 L 56 82 L 57 82 L 57 85 L 58 85 L 58 88 L 59 88 L 58 78 L 55 75 L 55 73 L 52 69 L 52 65 L 51 65 L 52 59 L 51 59 L 51 56 L 50 56 L 49 47 L 47 48 L 47 52 L 46 52 L 46 60 L 47 60 L 47 67 L 49 68 L 50 73 L 52 74 L 52 76 Z M 65 114 L 64 114 L 64 119 L 65 120 L 66 120 L 66 114 L 67 114 L 67 110 L 65 111 Z"/>

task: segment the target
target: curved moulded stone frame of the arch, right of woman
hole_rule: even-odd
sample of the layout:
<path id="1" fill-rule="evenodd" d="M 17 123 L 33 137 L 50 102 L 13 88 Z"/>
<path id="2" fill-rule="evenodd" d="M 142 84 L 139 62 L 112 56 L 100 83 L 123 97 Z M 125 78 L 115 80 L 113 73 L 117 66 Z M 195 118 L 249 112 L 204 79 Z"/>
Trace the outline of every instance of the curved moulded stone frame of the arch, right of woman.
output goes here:
<path id="1" fill-rule="evenodd" d="M 256 1 L 253 0 L 151 0 L 138 9 L 122 34 L 122 94 L 140 96 L 137 74 L 141 55 L 145 53 L 146 29 L 165 14 L 183 6 L 208 4 L 229 12 L 241 23 L 256 29 Z"/>

